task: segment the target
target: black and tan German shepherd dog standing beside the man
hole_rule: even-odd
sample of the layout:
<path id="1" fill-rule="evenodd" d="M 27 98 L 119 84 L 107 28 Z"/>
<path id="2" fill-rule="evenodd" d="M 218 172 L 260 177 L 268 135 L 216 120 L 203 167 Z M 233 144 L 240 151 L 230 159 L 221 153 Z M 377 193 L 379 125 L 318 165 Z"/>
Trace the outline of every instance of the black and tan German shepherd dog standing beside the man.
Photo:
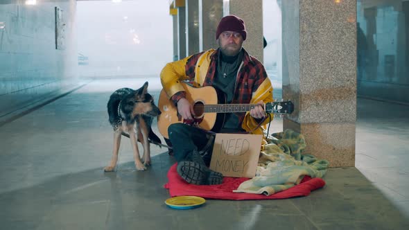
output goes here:
<path id="1" fill-rule="evenodd" d="M 121 135 L 128 136 L 134 152 L 134 161 L 137 170 L 146 170 L 150 166 L 150 143 L 162 143 L 152 131 L 152 121 L 161 114 L 154 104 L 153 97 L 148 94 L 148 82 L 140 89 L 122 88 L 114 91 L 107 104 L 110 123 L 114 127 L 114 150 L 110 164 L 104 168 L 105 172 L 113 171 L 118 161 Z M 143 156 L 139 156 L 137 139 L 143 145 Z"/>

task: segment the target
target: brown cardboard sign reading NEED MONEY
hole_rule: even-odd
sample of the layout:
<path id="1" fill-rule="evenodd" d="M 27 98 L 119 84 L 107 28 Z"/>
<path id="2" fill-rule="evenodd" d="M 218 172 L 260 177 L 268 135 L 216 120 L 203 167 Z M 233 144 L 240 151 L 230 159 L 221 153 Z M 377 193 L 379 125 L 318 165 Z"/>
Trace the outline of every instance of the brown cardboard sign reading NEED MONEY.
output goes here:
<path id="1" fill-rule="evenodd" d="M 254 134 L 216 134 L 210 169 L 225 177 L 254 177 L 262 138 Z"/>

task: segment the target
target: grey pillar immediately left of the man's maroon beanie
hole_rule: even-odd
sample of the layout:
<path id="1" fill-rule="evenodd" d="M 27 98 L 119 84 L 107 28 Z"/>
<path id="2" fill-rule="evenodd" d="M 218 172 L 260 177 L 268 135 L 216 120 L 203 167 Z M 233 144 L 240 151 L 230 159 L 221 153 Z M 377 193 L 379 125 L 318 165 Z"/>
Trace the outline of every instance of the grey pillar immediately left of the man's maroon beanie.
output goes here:
<path id="1" fill-rule="evenodd" d="M 199 50 L 218 48 L 216 29 L 223 17 L 223 0 L 199 0 Z"/>

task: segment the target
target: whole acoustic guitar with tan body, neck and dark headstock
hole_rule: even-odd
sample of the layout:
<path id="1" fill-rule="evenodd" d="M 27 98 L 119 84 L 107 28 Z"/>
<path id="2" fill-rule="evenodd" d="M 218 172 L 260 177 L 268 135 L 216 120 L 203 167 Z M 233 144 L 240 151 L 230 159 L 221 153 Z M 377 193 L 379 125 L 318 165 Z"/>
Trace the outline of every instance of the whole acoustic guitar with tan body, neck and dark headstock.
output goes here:
<path id="1" fill-rule="evenodd" d="M 224 114 L 232 112 L 247 112 L 250 109 L 259 106 L 256 104 L 220 104 L 222 94 L 214 87 L 194 88 L 185 83 L 182 83 L 184 91 L 186 91 L 186 99 L 193 105 L 195 118 L 192 120 L 184 120 L 177 113 L 177 107 L 172 100 L 168 98 L 164 89 L 159 95 L 158 107 L 162 114 L 157 118 L 157 126 L 159 132 L 166 139 L 168 136 L 168 127 L 173 123 L 186 123 L 189 125 L 198 125 L 204 130 L 214 130 L 216 127 L 223 127 Z M 266 103 L 264 111 L 273 114 L 291 114 L 294 110 L 294 105 L 291 101 L 281 101 Z"/>

